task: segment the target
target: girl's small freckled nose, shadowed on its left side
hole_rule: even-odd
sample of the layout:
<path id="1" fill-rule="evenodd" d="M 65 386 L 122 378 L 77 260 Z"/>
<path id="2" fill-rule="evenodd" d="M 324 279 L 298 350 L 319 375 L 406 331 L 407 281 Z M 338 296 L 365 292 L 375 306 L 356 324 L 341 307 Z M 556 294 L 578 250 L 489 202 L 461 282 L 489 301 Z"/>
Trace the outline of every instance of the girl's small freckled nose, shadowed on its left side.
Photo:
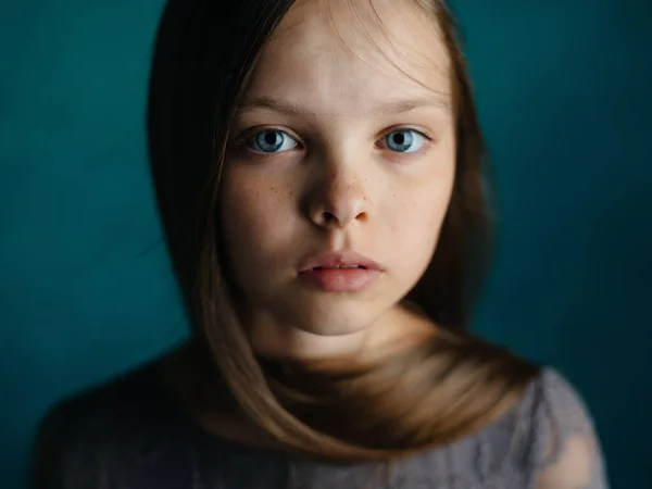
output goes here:
<path id="1" fill-rule="evenodd" d="M 346 168 L 326 171 L 314 184 L 309 199 L 309 217 L 319 227 L 344 228 L 369 218 L 364 181 Z"/>

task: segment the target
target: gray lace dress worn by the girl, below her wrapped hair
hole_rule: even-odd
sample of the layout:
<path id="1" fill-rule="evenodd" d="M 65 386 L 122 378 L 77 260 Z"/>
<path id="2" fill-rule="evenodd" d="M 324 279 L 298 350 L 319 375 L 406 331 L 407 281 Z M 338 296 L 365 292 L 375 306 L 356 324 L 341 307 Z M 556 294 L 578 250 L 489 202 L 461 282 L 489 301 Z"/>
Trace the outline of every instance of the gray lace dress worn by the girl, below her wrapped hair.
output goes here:
<path id="1" fill-rule="evenodd" d="M 54 410 L 37 447 L 39 489 L 606 488 L 589 414 L 551 368 L 480 432 L 391 465 L 316 462 L 209 436 L 147 373 Z"/>

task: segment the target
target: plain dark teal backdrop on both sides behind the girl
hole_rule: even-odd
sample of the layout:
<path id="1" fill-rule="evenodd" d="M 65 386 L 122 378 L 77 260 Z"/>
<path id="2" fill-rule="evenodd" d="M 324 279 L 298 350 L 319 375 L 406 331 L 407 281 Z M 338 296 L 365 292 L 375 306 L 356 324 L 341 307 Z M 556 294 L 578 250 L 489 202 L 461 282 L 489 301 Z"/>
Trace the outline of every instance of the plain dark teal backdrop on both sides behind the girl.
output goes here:
<path id="1" fill-rule="evenodd" d="M 54 401 L 186 335 L 143 139 L 162 5 L 0 3 L 4 489 Z M 652 488 L 652 3 L 456 5 L 502 206 L 477 328 L 562 369 L 613 487 Z"/>

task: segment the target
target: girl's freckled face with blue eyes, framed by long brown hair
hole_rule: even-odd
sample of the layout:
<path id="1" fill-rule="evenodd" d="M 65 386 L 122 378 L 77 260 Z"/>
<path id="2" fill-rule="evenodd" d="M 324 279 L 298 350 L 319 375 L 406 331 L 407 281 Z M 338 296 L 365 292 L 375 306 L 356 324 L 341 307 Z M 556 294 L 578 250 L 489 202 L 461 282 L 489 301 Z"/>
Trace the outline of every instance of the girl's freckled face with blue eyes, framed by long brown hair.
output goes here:
<path id="1" fill-rule="evenodd" d="M 241 318 L 271 355 L 341 352 L 400 326 L 451 196 L 435 22 L 406 0 L 350 3 L 292 7 L 231 129 L 221 231 Z"/>

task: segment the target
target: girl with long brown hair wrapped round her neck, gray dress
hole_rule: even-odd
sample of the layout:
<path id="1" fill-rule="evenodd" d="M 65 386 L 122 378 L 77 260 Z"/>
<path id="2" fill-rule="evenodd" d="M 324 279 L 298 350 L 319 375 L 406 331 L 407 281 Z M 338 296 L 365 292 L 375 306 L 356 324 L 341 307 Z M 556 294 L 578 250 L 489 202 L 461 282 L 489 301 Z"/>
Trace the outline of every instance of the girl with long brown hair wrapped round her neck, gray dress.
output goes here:
<path id="1" fill-rule="evenodd" d="M 37 487 L 604 488 L 572 387 L 464 333 L 489 229 L 446 5 L 217 3 L 170 0 L 150 80 L 192 338 L 53 411 Z"/>

